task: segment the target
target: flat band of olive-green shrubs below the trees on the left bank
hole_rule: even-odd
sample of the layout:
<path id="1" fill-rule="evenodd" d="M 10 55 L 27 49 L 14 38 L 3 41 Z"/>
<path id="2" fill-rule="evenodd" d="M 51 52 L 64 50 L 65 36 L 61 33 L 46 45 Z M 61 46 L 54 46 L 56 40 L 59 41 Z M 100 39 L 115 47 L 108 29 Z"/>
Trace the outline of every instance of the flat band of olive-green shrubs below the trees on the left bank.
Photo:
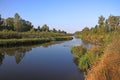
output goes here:
<path id="1" fill-rule="evenodd" d="M 69 34 L 58 32 L 16 32 L 16 31 L 0 31 L 0 39 L 21 39 L 21 38 L 51 38 L 68 36 Z"/>

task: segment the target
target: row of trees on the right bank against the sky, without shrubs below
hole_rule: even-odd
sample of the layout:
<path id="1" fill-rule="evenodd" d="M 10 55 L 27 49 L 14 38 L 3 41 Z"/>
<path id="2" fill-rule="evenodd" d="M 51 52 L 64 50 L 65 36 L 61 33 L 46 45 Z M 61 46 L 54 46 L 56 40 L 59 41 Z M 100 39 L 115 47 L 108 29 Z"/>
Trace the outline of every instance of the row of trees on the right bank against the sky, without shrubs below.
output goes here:
<path id="1" fill-rule="evenodd" d="M 92 28 L 85 27 L 82 31 L 77 31 L 75 34 L 84 34 L 88 33 L 110 33 L 120 31 L 120 16 L 110 15 L 108 19 L 105 19 L 104 16 L 100 16 L 98 19 L 98 25 Z"/>

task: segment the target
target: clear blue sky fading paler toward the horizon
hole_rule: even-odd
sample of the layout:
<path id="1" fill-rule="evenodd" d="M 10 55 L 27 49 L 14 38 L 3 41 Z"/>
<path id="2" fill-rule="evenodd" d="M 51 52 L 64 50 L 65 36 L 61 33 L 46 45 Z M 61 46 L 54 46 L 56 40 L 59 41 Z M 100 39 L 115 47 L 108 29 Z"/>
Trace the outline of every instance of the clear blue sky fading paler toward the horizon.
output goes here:
<path id="1" fill-rule="evenodd" d="M 47 24 L 50 29 L 74 33 L 94 27 L 101 15 L 120 16 L 120 0 L 0 0 L 2 18 L 15 13 L 36 28 Z"/>

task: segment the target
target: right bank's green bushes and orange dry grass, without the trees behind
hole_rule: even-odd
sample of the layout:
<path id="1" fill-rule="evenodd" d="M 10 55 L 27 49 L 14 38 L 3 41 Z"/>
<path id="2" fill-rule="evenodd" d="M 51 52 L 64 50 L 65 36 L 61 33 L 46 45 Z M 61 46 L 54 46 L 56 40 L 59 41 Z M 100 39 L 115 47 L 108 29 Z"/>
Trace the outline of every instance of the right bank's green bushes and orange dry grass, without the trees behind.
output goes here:
<path id="1" fill-rule="evenodd" d="M 119 32 L 109 33 L 96 38 L 85 38 L 94 43 L 90 49 L 83 52 L 81 46 L 73 47 L 73 54 L 77 57 L 80 70 L 87 71 L 85 80 L 120 80 L 120 36 Z M 94 40 L 98 42 L 93 42 Z"/>

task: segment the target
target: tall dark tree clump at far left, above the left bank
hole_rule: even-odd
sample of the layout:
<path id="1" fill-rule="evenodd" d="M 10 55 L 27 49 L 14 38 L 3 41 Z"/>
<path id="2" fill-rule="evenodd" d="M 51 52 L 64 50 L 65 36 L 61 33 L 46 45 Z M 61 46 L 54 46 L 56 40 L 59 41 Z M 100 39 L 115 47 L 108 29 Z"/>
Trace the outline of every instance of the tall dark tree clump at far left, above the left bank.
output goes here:
<path id="1" fill-rule="evenodd" d="M 8 17 L 7 19 L 1 18 L 0 15 L 0 30 L 12 30 L 18 32 L 29 31 L 32 28 L 32 23 L 22 19 L 18 13 L 14 15 L 14 18 Z"/>

